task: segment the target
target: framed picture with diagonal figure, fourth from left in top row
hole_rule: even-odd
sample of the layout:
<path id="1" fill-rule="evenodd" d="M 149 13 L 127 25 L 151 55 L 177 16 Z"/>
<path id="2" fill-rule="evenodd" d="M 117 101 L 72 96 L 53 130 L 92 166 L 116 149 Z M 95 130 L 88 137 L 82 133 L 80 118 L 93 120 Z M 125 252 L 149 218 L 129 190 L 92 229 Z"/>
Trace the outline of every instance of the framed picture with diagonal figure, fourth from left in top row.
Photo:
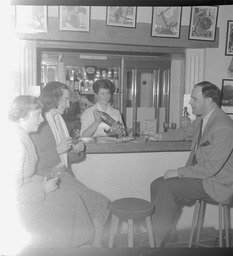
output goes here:
<path id="1" fill-rule="evenodd" d="M 179 38 L 182 7 L 153 7 L 152 36 Z"/>

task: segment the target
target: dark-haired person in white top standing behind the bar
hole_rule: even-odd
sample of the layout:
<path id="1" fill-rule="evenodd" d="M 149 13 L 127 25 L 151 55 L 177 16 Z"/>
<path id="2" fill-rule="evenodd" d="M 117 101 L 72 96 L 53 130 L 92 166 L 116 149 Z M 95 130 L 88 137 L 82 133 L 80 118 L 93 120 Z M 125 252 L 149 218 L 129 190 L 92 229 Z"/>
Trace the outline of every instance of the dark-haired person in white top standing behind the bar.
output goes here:
<path id="1" fill-rule="evenodd" d="M 114 84 L 106 79 L 97 80 L 93 84 L 96 104 L 86 109 L 81 116 L 82 126 L 80 134 L 82 137 L 106 136 L 110 131 L 110 126 L 102 122 L 101 115 L 98 111 L 107 113 L 122 127 L 124 127 L 120 112 L 113 108 L 109 103 L 114 89 Z M 114 127 L 111 127 L 111 129 L 114 129 Z M 115 130 L 117 129 L 118 128 L 116 127 Z"/>

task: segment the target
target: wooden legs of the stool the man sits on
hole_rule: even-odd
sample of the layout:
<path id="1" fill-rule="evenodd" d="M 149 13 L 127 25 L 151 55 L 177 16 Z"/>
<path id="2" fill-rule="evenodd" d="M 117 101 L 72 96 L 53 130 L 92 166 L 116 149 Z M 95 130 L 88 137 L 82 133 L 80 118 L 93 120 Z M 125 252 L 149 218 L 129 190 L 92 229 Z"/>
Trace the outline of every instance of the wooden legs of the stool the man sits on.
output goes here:
<path id="1" fill-rule="evenodd" d="M 188 247 L 192 247 L 195 229 L 197 229 L 195 244 L 201 246 L 201 243 L 199 243 L 199 240 L 200 240 L 200 236 L 201 236 L 201 229 L 202 229 L 203 223 L 204 223 L 205 204 L 206 203 L 204 201 L 196 200 Z M 224 227 L 225 227 L 226 247 L 229 247 L 230 217 L 229 217 L 229 208 L 228 208 L 227 204 L 218 204 L 219 247 L 223 247 L 223 231 L 222 231 L 223 225 L 222 225 L 222 222 L 224 222 Z"/>

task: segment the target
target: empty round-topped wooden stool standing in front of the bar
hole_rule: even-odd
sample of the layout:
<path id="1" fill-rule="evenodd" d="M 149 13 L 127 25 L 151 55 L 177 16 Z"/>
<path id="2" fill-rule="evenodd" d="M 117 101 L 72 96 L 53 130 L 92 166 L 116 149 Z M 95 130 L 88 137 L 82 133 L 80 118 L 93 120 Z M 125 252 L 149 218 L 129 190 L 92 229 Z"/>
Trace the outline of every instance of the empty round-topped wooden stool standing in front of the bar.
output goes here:
<path id="1" fill-rule="evenodd" d="M 110 204 L 112 220 L 108 247 L 113 246 L 114 234 L 117 233 L 119 220 L 125 220 L 128 222 L 128 247 L 133 247 L 133 220 L 139 218 L 146 219 L 150 246 L 155 247 L 151 223 L 151 214 L 153 211 L 154 206 L 150 202 L 143 199 L 121 198 L 113 201 Z"/>

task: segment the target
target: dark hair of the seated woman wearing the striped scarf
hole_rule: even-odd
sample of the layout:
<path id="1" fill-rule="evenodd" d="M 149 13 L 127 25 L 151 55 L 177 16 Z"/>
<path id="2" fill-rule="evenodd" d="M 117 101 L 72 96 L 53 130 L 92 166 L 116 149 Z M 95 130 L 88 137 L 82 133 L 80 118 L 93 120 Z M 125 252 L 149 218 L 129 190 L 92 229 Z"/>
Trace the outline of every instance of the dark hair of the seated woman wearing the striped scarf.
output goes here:
<path id="1" fill-rule="evenodd" d="M 45 112 L 58 107 L 64 90 L 69 90 L 69 87 L 66 84 L 56 81 L 46 84 L 39 96 L 39 99 L 44 105 Z"/>

